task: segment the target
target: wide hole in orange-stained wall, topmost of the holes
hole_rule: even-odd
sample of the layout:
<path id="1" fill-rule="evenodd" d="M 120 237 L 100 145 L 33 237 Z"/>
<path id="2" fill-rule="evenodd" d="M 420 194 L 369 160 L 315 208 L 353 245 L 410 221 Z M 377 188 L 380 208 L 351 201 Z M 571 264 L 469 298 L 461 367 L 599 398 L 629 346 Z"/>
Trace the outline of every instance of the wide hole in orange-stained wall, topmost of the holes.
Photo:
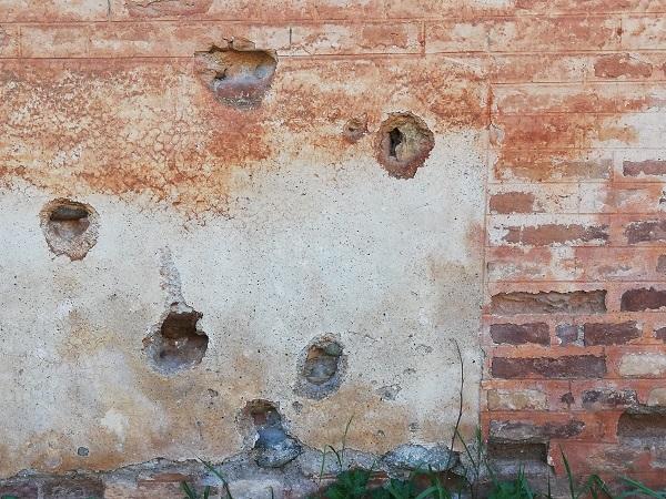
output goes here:
<path id="1" fill-rule="evenodd" d="M 274 51 L 254 50 L 248 41 L 232 41 L 225 48 L 196 52 L 196 72 L 215 99 L 231 108 L 259 106 L 273 82 L 278 57 Z"/>

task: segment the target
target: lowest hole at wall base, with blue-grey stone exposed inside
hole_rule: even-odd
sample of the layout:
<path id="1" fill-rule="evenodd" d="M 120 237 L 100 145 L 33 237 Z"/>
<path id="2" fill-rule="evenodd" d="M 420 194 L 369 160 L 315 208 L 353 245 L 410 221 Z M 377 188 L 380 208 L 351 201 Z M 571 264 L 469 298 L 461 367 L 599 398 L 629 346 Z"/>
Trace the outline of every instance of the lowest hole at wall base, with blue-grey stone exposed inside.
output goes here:
<path id="1" fill-rule="evenodd" d="M 241 413 L 241 426 L 258 466 L 280 468 L 301 454 L 301 445 L 284 428 L 274 404 L 252 400 Z"/>

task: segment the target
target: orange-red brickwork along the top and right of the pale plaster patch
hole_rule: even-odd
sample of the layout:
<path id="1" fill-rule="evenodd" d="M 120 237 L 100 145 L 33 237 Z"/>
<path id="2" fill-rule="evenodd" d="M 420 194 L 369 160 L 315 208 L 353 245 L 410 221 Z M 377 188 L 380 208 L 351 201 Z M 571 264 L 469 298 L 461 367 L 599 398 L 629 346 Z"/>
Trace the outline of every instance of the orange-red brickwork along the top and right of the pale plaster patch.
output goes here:
<path id="1" fill-rule="evenodd" d="M 498 446 L 547 445 L 559 471 L 562 448 L 578 469 L 665 483 L 666 456 L 655 446 L 666 405 L 665 14 L 663 0 L 0 0 L 6 82 L 29 82 L 74 113 L 90 101 L 70 100 L 71 88 L 94 95 L 100 80 L 122 78 L 125 95 L 149 85 L 164 99 L 145 98 L 154 115 L 138 110 L 111 121 L 92 101 L 93 120 L 75 125 L 93 146 L 83 153 L 95 165 L 88 171 L 72 160 L 78 139 L 68 123 L 32 123 L 40 140 L 17 150 L 21 118 L 7 113 L 0 173 L 4 185 L 58 195 L 143 195 L 189 216 L 228 215 L 230 203 L 239 205 L 229 189 L 238 179 L 173 166 L 200 143 L 188 131 L 219 133 L 214 154 L 224 164 L 273 161 L 266 123 L 301 141 L 286 142 L 293 154 L 306 143 L 323 163 L 372 159 L 370 145 L 347 152 L 331 136 L 349 109 L 376 123 L 384 101 L 410 95 L 404 102 L 436 122 L 436 142 L 470 132 L 486 159 L 485 185 L 467 187 L 487 201 L 485 242 L 468 249 L 484 258 L 485 434 Z M 279 116 L 248 123 L 211 112 L 188 121 L 171 90 L 195 52 L 234 38 L 275 50 L 291 75 L 276 90 L 283 102 L 270 106 Z M 330 74 L 335 83 L 317 102 Z M 345 86 L 350 78 L 364 91 Z M 57 89 L 51 80 L 60 80 Z M 147 133 L 104 139 L 128 120 Z M 173 163 L 161 149 L 145 150 L 174 136 Z M 248 138 L 250 150 L 239 145 Z M 68 159 L 47 159 L 42 145 Z M 483 231 L 470 232 L 475 241 Z M 446 404 L 451 416 L 455 403 Z M 406 430 L 396 437 L 406 438 Z M 114 455 L 95 467 L 119 462 Z"/>

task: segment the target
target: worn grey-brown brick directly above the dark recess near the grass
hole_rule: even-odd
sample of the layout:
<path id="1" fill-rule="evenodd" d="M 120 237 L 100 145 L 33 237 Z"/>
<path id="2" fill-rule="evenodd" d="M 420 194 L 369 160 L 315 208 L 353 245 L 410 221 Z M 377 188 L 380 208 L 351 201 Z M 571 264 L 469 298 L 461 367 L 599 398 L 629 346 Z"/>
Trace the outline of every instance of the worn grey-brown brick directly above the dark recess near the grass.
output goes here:
<path id="1" fill-rule="evenodd" d="M 491 421 L 493 441 L 547 442 L 552 438 L 572 438 L 581 435 L 585 422 L 572 419 L 567 422 L 546 422 L 537 425 L 531 421 Z"/>

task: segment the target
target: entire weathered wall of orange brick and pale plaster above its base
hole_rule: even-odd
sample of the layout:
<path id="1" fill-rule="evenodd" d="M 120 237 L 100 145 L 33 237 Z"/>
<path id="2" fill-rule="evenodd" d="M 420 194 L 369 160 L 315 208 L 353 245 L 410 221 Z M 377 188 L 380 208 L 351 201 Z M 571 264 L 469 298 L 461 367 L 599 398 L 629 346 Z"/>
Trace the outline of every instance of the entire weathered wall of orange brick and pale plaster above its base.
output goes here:
<path id="1" fill-rule="evenodd" d="M 220 461 L 256 399 L 304 447 L 446 444 L 455 339 L 465 435 L 658 480 L 664 12 L 0 0 L 0 475 Z"/>

